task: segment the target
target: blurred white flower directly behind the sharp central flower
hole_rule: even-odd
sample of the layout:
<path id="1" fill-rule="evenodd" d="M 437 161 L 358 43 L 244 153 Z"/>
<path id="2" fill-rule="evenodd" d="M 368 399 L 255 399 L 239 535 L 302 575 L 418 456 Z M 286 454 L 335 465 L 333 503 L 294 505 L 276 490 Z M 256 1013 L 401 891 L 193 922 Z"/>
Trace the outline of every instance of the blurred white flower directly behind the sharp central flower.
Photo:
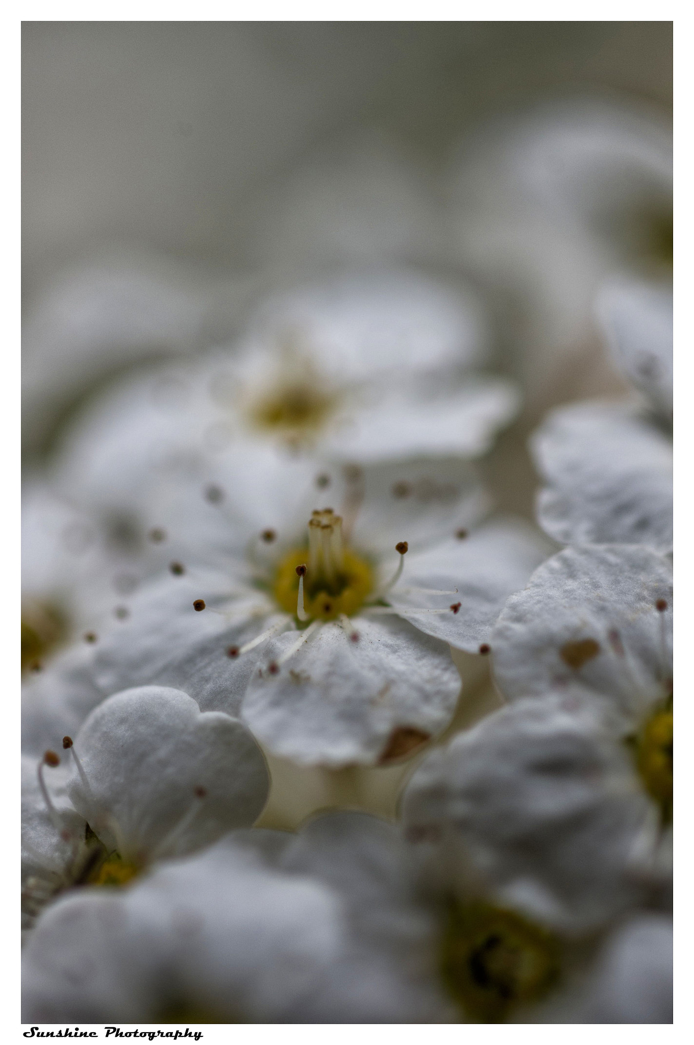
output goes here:
<path id="1" fill-rule="evenodd" d="M 55 482 L 99 511 L 225 447 L 318 446 L 351 462 L 477 457 L 517 409 L 477 302 L 410 272 L 343 275 L 267 302 L 238 344 L 131 378 L 73 424 Z M 146 529 L 146 527 L 144 528 Z"/>

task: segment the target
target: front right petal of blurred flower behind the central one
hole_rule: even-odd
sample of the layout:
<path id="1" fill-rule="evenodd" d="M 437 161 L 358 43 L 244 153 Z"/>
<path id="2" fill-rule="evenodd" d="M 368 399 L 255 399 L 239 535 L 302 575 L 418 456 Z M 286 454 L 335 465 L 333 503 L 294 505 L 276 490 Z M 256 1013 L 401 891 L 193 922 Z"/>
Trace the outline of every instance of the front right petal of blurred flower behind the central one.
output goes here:
<path id="1" fill-rule="evenodd" d="M 479 457 L 517 407 L 515 389 L 501 379 L 475 377 L 463 384 L 452 377 L 438 395 L 414 384 L 391 384 L 374 388 L 369 402 L 328 440 L 325 451 L 360 462 Z"/>

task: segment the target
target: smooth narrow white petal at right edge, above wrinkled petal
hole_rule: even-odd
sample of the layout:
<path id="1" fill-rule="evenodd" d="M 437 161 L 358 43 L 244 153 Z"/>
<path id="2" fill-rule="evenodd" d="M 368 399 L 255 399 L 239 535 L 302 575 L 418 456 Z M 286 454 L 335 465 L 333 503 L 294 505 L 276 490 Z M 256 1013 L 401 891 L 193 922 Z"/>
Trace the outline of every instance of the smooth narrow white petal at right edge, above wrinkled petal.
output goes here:
<path id="1" fill-rule="evenodd" d="M 616 281 L 597 314 L 620 370 L 665 418 L 672 416 L 672 286 Z"/>

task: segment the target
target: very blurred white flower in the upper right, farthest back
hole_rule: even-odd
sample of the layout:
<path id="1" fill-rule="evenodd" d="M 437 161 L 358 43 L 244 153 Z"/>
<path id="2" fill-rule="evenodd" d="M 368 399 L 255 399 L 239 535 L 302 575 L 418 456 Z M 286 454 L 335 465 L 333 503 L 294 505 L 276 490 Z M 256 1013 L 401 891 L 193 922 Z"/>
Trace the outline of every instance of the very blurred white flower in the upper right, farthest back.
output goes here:
<path id="1" fill-rule="evenodd" d="M 573 395 L 577 380 L 604 388 L 609 373 L 588 354 L 599 285 L 617 271 L 671 276 L 665 123 L 589 98 L 506 117 L 463 143 L 450 204 L 457 257 L 510 305 L 529 400 L 556 402 L 560 380 Z"/>

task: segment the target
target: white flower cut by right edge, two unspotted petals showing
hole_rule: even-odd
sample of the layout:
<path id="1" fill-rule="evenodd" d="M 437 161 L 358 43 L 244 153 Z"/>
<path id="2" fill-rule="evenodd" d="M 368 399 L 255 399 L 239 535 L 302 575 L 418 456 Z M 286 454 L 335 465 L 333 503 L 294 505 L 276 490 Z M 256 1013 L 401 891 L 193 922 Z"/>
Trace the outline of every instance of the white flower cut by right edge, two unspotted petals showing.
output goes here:
<path id="1" fill-rule="evenodd" d="M 633 282 L 604 287 L 598 312 L 614 357 L 643 405 L 572 403 L 552 411 L 531 446 L 547 486 L 541 527 L 564 543 L 672 548 L 672 291 Z M 660 415 L 660 416 L 658 416 Z"/>

